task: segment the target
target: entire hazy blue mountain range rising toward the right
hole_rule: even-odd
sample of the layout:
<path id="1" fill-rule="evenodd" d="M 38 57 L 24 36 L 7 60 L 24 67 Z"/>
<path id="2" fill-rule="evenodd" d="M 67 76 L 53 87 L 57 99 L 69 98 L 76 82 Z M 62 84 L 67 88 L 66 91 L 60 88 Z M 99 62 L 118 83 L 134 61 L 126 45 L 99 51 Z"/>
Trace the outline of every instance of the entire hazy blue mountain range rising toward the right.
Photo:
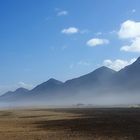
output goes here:
<path id="1" fill-rule="evenodd" d="M 91 103 L 92 100 L 106 95 L 109 97 L 125 95 L 126 99 L 127 95 L 139 97 L 139 92 L 140 57 L 118 72 L 103 66 L 66 82 L 51 78 L 32 90 L 19 88 L 13 92 L 9 91 L 0 96 L 0 102 L 57 104 L 90 100 Z"/>

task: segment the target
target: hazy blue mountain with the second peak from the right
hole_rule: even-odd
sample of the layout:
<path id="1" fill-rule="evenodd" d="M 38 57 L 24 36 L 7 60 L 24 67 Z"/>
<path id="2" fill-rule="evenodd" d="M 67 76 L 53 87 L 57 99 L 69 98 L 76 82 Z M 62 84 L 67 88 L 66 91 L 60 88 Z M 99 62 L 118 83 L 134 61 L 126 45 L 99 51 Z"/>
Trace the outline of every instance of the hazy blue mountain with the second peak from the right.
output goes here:
<path id="1" fill-rule="evenodd" d="M 97 89 L 107 84 L 108 79 L 115 73 L 116 71 L 103 66 L 91 73 L 66 81 L 64 87 L 66 90 L 75 89 L 77 92 Z"/>

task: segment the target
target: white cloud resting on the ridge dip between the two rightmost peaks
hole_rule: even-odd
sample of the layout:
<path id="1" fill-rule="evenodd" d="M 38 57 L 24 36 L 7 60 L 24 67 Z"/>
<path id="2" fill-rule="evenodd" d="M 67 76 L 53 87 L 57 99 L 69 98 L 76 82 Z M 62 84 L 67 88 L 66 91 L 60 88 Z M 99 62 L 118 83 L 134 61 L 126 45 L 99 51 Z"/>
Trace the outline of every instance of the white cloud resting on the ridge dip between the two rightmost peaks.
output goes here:
<path id="1" fill-rule="evenodd" d="M 111 69 L 114 69 L 116 71 L 119 71 L 120 69 L 124 68 L 127 65 L 132 64 L 135 61 L 136 61 L 136 58 L 133 58 L 129 61 L 122 60 L 122 59 L 116 59 L 116 60 L 112 61 L 110 59 L 106 59 L 106 60 L 104 60 L 103 65 L 107 66 Z"/>

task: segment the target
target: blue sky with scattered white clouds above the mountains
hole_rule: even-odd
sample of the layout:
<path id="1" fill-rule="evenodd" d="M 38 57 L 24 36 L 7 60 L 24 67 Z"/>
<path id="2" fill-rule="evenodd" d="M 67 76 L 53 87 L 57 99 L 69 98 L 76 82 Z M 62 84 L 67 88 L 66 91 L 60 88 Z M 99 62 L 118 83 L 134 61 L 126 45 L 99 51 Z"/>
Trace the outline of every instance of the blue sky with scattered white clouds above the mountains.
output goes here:
<path id="1" fill-rule="evenodd" d="M 139 0 L 0 0 L 0 94 L 139 56 Z"/>

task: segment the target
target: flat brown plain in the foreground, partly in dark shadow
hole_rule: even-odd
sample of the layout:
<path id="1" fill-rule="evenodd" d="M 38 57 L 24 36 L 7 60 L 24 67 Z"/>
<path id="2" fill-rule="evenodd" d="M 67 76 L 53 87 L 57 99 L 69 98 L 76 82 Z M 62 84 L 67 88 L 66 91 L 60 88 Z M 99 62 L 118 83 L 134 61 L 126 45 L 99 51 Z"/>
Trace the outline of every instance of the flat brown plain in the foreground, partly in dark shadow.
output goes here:
<path id="1" fill-rule="evenodd" d="M 140 109 L 1 110 L 0 140 L 140 140 Z"/>

